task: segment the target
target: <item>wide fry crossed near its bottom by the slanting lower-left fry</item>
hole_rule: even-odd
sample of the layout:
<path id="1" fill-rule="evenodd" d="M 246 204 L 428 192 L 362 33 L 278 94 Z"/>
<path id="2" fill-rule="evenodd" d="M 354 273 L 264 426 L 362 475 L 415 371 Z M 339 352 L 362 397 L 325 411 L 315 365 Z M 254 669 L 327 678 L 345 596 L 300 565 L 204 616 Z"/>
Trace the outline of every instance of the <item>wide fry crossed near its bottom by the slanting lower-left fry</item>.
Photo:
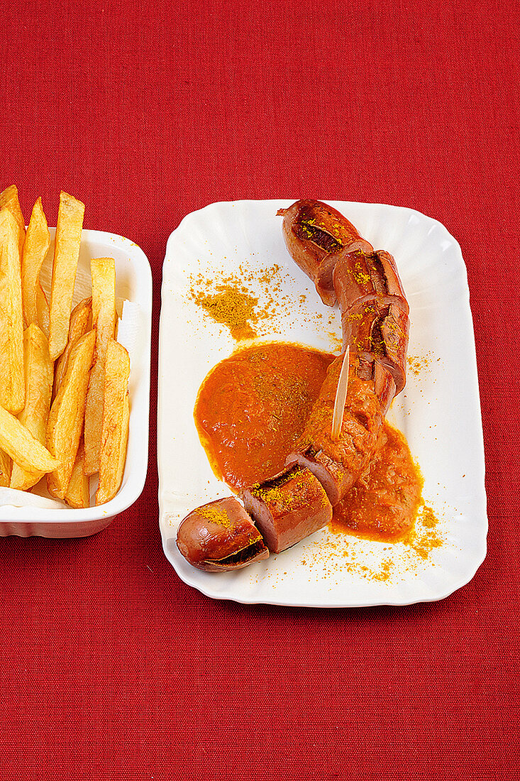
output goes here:
<path id="1" fill-rule="evenodd" d="M 35 439 L 41 444 L 45 444 L 48 412 L 51 406 L 53 367 L 48 354 L 47 337 L 35 323 L 31 323 L 23 333 L 23 355 L 25 359 L 25 406 L 18 415 L 18 419 Z M 27 490 L 36 485 L 43 474 L 22 469 L 18 464 L 14 464 L 9 485 L 11 488 Z"/>

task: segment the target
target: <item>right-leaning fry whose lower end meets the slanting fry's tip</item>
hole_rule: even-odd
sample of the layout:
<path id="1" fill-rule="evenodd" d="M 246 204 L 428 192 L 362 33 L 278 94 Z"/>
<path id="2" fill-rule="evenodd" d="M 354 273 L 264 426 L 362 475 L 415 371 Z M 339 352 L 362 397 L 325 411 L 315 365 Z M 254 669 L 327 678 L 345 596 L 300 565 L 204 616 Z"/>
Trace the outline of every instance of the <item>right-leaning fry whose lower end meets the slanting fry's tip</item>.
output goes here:
<path id="1" fill-rule="evenodd" d="M 49 494 L 59 499 L 65 497 L 80 444 L 95 337 L 95 332 L 89 331 L 74 345 L 48 416 L 47 447 L 62 463 L 48 475 L 47 487 Z"/>

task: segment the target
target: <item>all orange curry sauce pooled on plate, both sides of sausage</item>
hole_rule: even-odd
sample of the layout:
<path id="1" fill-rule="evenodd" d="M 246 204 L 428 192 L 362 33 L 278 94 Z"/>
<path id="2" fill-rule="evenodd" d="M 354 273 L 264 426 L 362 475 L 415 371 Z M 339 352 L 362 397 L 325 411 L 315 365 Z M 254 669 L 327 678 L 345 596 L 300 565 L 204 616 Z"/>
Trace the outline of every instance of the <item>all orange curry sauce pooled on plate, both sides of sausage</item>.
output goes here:
<path id="1" fill-rule="evenodd" d="M 269 342 L 237 350 L 205 378 L 194 409 L 201 443 L 220 480 L 239 491 L 283 469 L 335 355 Z M 331 529 L 402 539 L 415 522 L 422 477 L 404 436 L 385 423 L 366 473 L 334 508 Z"/>

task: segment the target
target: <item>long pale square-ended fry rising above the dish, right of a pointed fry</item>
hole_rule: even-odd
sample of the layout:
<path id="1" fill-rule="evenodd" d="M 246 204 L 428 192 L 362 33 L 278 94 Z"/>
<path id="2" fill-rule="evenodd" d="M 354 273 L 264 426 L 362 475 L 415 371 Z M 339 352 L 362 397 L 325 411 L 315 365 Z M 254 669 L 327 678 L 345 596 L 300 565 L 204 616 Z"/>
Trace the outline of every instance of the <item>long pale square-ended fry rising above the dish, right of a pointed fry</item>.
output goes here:
<path id="1" fill-rule="evenodd" d="M 49 320 L 49 353 L 58 358 L 69 335 L 70 308 L 80 255 L 81 228 L 85 206 L 72 195 L 60 193 L 52 265 L 51 309 Z"/>

